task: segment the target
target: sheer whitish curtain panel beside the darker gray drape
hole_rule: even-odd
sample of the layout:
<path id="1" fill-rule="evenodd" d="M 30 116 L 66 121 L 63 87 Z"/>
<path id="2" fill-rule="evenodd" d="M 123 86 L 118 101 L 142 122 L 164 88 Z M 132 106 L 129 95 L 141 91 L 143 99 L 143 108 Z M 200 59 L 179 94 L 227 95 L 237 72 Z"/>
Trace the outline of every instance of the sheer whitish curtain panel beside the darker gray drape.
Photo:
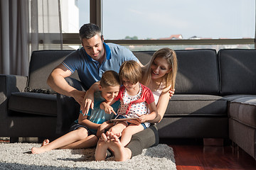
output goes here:
<path id="1" fill-rule="evenodd" d="M 31 51 L 62 50 L 60 0 L 31 1 Z"/>

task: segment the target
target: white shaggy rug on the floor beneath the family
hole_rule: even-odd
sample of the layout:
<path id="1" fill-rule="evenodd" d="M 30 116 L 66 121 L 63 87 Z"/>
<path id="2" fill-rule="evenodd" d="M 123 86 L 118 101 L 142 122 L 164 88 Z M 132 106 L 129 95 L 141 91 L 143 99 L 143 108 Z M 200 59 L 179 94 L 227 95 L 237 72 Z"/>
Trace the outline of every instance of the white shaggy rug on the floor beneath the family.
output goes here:
<path id="1" fill-rule="evenodd" d="M 171 147 L 159 144 L 144 149 L 127 162 L 96 162 L 95 149 L 55 149 L 43 154 L 29 154 L 37 143 L 0 143 L 0 169 L 176 169 Z"/>

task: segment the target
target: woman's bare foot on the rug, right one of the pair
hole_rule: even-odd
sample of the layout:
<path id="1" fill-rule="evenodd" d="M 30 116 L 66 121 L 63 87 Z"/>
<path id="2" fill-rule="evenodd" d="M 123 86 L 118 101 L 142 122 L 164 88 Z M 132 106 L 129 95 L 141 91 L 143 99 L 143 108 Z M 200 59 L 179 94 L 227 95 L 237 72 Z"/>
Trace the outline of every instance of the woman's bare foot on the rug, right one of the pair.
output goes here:
<path id="1" fill-rule="evenodd" d="M 114 160 L 117 162 L 124 162 L 132 157 L 131 150 L 122 145 L 117 135 L 110 134 L 109 147 L 114 152 Z"/>

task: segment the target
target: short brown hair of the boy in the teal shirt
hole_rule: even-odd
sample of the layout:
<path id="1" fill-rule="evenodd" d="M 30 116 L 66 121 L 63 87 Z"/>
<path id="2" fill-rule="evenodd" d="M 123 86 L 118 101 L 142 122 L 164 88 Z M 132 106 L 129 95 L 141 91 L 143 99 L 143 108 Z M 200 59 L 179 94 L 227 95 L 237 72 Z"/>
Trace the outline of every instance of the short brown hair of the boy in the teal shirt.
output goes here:
<path id="1" fill-rule="evenodd" d="M 108 70 L 102 74 L 102 78 L 100 79 L 100 86 L 120 86 L 121 82 L 119 80 L 119 75 L 117 72 L 113 70 Z"/>

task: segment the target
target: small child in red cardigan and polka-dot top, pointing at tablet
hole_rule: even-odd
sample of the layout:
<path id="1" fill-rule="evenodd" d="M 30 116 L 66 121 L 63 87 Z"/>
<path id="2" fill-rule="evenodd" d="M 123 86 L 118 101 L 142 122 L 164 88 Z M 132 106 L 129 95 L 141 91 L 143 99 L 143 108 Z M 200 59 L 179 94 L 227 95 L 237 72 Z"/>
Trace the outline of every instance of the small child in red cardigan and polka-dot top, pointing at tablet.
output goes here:
<path id="1" fill-rule="evenodd" d="M 157 108 L 154 96 L 149 88 L 139 83 L 142 79 L 142 68 L 132 60 L 123 62 L 119 69 L 119 79 L 122 87 L 119 94 L 111 103 L 102 102 L 101 108 L 106 113 L 114 113 L 111 105 L 120 99 L 120 108 L 117 111 L 117 123 L 106 134 L 102 134 L 100 140 L 108 140 L 111 133 L 121 137 L 120 142 L 124 147 L 130 142 L 132 135 L 149 128 L 150 123 L 157 116 Z M 120 118 L 118 120 L 118 118 Z M 139 124 L 129 123 L 122 118 L 136 118 Z M 104 160 L 107 148 L 97 147 L 95 160 Z"/>

